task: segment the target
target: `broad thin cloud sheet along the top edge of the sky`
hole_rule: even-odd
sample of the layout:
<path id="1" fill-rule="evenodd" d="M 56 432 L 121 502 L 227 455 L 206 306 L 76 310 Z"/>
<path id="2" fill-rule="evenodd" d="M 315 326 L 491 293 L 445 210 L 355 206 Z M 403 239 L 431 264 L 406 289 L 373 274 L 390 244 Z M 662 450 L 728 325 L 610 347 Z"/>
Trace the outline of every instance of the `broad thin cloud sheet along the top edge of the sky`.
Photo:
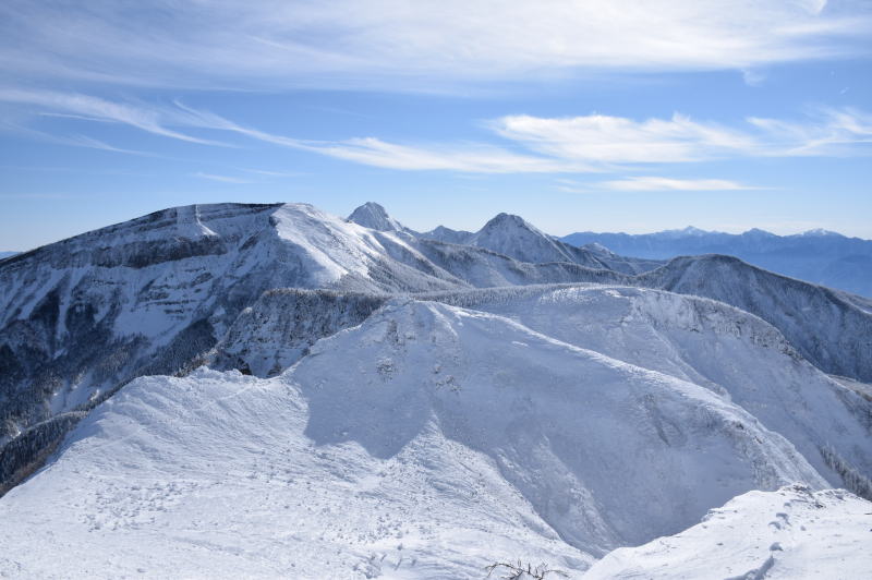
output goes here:
<path id="1" fill-rule="evenodd" d="M 753 70 L 869 55 L 868 4 L 823 0 L 0 3 L 7 77 L 443 90 L 579 71 Z"/>

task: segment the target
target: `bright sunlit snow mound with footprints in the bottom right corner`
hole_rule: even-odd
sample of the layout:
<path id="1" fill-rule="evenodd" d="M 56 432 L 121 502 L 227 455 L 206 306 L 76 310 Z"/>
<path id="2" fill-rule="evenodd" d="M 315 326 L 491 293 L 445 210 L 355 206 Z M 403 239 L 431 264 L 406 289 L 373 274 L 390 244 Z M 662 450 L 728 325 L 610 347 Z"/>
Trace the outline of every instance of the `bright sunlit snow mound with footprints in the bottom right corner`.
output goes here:
<path id="1" fill-rule="evenodd" d="M 680 534 L 616 549 L 583 578 L 868 578 L 870 527 L 872 503 L 843 491 L 750 492 Z"/>

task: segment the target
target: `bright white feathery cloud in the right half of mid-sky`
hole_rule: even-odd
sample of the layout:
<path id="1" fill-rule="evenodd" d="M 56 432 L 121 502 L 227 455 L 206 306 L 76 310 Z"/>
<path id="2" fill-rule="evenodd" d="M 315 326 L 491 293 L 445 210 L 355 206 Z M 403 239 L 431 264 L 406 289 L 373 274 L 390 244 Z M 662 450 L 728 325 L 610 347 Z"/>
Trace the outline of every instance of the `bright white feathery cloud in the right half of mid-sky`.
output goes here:
<path id="1" fill-rule="evenodd" d="M 738 126 L 681 114 L 637 121 L 591 114 L 504 117 L 488 123 L 500 136 L 553 158 L 601 169 L 749 156 L 849 156 L 870 153 L 872 116 L 821 109 L 802 120 L 749 118 Z"/>

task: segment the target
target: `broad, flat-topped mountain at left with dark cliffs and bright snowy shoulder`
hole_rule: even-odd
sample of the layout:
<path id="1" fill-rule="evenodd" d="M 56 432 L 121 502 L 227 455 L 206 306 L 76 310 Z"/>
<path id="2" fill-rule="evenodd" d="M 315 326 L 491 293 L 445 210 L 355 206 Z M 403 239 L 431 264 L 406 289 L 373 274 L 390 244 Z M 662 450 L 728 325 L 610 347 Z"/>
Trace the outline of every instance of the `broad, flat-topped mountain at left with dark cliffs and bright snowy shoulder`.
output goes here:
<path id="1" fill-rule="evenodd" d="M 184 368 L 266 290 L 467 286 L 402 239 L 304 204 L 178 207 L 5 259 L 0 484 L 27 461 L 4 455 L 11 438 L 132 377 Z"/>

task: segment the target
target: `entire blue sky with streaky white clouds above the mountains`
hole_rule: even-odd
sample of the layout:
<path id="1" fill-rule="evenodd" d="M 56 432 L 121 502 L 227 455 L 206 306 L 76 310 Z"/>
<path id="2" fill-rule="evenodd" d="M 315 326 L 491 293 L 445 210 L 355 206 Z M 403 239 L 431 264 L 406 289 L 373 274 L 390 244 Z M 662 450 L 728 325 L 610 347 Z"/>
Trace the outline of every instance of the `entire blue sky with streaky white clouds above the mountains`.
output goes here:
<path id="1" fill-rule="evenodd" d="M 0 5 L 0 250 L 192 203 L 872 238 L 855 0 Z"/>

